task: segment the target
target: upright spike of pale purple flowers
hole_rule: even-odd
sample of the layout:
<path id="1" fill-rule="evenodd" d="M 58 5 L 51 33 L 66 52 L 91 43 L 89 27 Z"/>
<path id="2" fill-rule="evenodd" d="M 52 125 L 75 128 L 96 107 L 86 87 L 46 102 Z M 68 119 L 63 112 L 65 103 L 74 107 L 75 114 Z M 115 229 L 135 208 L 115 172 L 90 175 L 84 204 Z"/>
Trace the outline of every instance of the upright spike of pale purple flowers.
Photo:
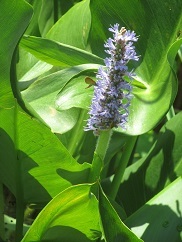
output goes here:
<path id="1" fill-rule="evenodd" d="M 105 58 L 106 67 L 100 67 L 96 75 L 90 117 L 84 129 L 93 130 L 95 135 L 113 127 L 126 129 L 132 86 L 123 77 L 132 79 L 134 74 L 128 71 L 127 64 L 130 60 L 139 60 L 133 46 L 138 40 L 135 32 L 124 27 L 119 30 L 119 24 L 109 30 L 113 32 L 113 39 L 109 38 L 104 47 L 110 57 Z"/>

